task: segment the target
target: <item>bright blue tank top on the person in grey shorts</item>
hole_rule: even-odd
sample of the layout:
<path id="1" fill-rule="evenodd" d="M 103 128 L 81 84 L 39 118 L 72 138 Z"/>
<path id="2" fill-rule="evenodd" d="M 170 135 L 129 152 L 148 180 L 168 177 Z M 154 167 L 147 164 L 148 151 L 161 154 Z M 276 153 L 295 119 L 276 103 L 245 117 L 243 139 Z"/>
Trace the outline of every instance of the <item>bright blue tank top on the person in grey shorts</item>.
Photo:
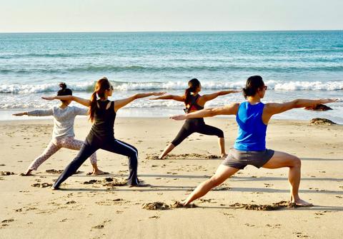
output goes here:
<path id="1" fill-rule="evenodd" d="M 239 151 L 266 150 L 267 125 L 262 121 L 263 108 L 262 102 L 252 105 L 245 101 L 239 105 L 236 116 L 239 129 L 234 148 Z"/>

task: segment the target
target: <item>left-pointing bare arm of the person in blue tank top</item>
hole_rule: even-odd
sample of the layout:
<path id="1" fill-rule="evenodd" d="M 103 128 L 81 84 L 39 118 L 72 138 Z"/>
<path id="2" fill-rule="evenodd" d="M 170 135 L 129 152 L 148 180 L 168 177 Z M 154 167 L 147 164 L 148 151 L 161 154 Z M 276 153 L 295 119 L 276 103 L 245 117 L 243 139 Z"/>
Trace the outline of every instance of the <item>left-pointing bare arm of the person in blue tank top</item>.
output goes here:
<path id="1" fill-rule="evenodd" d="M 237 113 L 239 103 L 232 103 L 229 106 L 217 107 L 217 108 L 204 108 L 201 111 L 194 111 L 187 113 L 186 115 L 172 116 L 170 118 L 176 121 L 183 121 L 187 118 L 204 118 L 219 115 L 235 115 Z"/>

